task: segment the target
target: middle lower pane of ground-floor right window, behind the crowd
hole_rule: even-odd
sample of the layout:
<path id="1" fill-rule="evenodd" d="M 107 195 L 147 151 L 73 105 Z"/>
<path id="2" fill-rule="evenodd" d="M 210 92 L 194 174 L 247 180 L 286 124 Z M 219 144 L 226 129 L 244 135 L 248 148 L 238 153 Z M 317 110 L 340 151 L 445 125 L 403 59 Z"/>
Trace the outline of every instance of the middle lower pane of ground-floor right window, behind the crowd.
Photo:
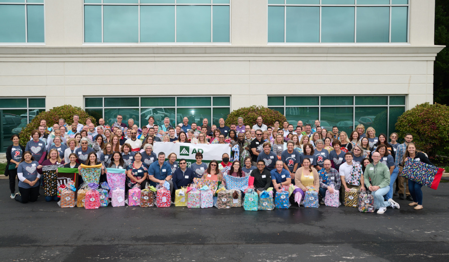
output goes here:
<path id="1" fill-rule="evenodd" d="M 345 131 L 349 136 L 353 130 L 352 115 L 353 107 L 322 107 L 321 125 L 328 131 L 336 125 L 338 130 Z M 310 124 L 313 126 L 314 123 Z"/>

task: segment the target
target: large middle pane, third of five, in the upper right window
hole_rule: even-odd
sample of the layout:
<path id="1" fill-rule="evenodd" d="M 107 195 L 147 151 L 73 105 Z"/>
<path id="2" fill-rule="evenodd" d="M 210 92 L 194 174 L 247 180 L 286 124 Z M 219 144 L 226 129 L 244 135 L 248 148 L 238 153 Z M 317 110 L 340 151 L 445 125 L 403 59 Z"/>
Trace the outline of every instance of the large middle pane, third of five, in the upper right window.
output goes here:
<path id="1" fill-rule="evenodd" d="M 322 7 L 321 41 L 354 42 L 354 7 Z"/>

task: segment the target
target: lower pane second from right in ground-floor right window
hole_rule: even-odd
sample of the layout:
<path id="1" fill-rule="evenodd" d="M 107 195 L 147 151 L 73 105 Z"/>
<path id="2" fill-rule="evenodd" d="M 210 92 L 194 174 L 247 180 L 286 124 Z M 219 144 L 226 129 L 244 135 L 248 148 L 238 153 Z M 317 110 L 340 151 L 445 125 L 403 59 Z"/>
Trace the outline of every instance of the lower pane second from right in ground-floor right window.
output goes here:
<path id="1" fill-rule="evenodd" d="M 387 134 L 387 107 L 356 107 L 355 121 L 365 126 L 365 131 L 372 126 L 376 130 L 376 136 L 380 133 Z"/>

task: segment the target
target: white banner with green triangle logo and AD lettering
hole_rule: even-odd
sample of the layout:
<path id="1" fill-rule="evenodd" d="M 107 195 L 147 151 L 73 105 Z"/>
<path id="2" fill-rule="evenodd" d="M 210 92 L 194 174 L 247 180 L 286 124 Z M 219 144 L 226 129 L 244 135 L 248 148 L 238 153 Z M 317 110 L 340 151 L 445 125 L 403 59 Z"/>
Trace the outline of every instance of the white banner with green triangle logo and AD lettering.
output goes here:
<path id="1" fill-rule="evenodd" d="M 172 142 L 154 142 L 153 152 L 156 156 L 159 152 L 165 153 L 165 158 L 170 153 L 175 153 L 178 161 L 182 158 L 190 160 L 187 162 L 195 162 L 195 154 L 201 152 L 203 154 L 203 161 L 209 162 L 216 160 L 222 161 L 222 155 L 227 153 L 231 156 L 231 147 L 229 144 L 192 144 L 192 143 L 172 143 Z"/>

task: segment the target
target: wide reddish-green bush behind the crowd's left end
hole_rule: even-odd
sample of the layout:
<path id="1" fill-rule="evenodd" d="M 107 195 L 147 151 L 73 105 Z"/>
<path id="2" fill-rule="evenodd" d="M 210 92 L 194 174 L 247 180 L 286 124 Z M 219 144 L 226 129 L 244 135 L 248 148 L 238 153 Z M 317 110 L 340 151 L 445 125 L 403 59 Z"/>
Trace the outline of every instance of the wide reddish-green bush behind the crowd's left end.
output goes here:
<path id="1" fill-rule="evenodd" d="M 41 120 L 46 120 L 47 126 L 51 127 L 55 123 L 58 123 L 61 118 L 63 118 L 69 125 L 72 124 L 74 115 L 80 116 L 80 123 L 85 123 L 86 118 L 88 117 L 92 119 L 93 123 L 96 122 L 95 118 L 89 116 L 89 114 L 82 110 L 81 107 L 76 107 L 68 104 L 53 107 L 49 111 L 41 112 L 33 119 L 33 121 L 31 121 L 26 125 L 25 128 L 22 129 L 22 132 L 20 132 L 20 144 L 22 144 L 23 146 L 26 145 L 26 142 L 30 140 L 31 131 L 33 131 L 34 129 L 38 129 L 39 125 L 41 124 Z M 69 129 L 70 127 L 67 128 L 67 131 Z"/>

